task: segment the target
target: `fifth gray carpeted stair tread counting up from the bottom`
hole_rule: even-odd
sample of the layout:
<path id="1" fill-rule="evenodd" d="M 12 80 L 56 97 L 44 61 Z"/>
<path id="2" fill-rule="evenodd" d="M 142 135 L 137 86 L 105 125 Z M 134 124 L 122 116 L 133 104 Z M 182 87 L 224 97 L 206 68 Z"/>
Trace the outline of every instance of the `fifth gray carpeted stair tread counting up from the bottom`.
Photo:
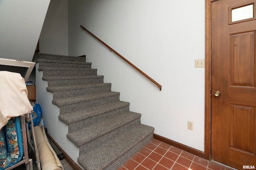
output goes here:
<path id="1" fill-rule="evenodd" d="M 46 90 L 49 92 L 60 92 L 60 91 L 67 91 L 67 90 L 78 90 L 84 88 L 95 88 L 95 87 L 103 87 L 103 86 L 111 86 L 111 83 L 96 83 L 96 84 L 78 84 L 72 86 L 54 86 L 54 87 L 47 87 Z"/>

